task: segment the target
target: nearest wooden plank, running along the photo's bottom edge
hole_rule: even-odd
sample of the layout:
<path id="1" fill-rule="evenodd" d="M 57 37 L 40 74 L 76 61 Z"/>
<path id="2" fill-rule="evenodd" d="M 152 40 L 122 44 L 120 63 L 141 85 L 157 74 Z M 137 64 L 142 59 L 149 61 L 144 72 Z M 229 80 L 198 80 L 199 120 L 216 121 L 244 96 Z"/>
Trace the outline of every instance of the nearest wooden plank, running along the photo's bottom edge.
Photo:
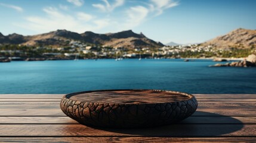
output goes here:
<path id="1" fill-rule="evenodd" d="M 256 142 L 256 137 L 168 138 L 168 137 L 0 137 L 1 142 Z"/>

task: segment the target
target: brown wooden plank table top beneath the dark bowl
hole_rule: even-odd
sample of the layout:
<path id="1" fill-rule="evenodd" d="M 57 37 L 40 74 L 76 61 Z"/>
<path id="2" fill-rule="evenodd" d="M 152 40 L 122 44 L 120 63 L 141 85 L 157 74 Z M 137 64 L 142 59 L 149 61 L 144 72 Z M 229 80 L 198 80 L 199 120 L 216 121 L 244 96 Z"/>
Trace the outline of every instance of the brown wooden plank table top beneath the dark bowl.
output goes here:
<path id="1" fill-rule="evenodd" d="M 63 94 L 1 94 L 0 142 L 256 142 L 256 94 L 194 94 L 198 110 L 146 129 L 80 125 L 60 109 Z"/>

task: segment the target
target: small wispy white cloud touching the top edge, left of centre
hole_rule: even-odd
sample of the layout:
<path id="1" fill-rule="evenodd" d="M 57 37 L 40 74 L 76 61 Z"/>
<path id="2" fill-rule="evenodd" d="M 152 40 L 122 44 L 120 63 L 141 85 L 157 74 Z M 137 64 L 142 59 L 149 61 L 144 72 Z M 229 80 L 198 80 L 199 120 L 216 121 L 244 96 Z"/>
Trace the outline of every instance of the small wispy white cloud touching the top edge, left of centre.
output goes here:
<path id="1" fill-rule="evenodd" d="M 107 0 L 101 0 L 101 1 L 104 2 L 104 5 L 103 4 L 92 4 L 92 7 L 98 8 L 104 12 L 109 12 L 109 11 L 115 10 L 115 8 L 117 8 L 117 7 L 124 5 L 124 3 L 125 3 L 125 0 L 115 0 L 115 2 L 113 2 L 113 4 L 110 4 L 109 1 L 107 1 Z"/>

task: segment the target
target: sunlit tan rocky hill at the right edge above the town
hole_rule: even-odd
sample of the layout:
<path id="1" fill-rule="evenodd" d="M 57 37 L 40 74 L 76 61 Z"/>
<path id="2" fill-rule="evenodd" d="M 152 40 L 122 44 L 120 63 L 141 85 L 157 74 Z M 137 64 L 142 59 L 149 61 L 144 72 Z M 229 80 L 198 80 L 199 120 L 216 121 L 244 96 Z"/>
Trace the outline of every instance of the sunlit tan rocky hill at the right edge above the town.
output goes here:
<path id="1" fill-rule="evenodd" d="M 250 48 L 256 45 L 256 30 L 236 29 L 226 35 L 211 39 L 203 45 L 213 45 L 217 48 Z"/>

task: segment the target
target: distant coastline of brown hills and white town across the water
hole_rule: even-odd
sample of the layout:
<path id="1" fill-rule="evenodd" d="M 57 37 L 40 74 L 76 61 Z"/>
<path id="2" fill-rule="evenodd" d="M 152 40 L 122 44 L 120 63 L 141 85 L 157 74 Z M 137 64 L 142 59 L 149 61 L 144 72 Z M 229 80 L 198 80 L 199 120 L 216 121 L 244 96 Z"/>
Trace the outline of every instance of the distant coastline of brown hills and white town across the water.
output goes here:
<path id="1" fill-rule="evenodd" d="M 106 58 L 230 61 L 243 60 L 251 54 L 256 54 L 256 30 L 249 29 L 236 29 L 207 42 L 187 45 L 164 45 L 132 30 L 106 34 L 56 30 L 32 36 L 0 33 L 0 62 Z"/>

